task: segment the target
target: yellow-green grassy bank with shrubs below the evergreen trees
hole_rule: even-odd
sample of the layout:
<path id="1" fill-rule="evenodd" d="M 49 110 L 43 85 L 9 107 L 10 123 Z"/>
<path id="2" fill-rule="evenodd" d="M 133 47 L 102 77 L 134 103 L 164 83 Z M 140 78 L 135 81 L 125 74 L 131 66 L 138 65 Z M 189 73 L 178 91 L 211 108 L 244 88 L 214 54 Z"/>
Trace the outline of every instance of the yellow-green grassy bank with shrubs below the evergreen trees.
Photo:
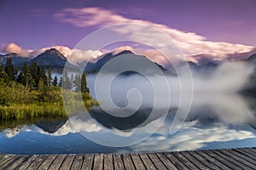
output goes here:
<path id="1" fill-rule="evenodd" d="M 61 87 L 44 87 L 39 90 L 26 88 L 18 83 L 12 82 L 10 86 L 0 84 L 0 120 L 22 120 L 35 119 L 40 117 L 64 117 L 74 114 L 79 108 L 90 109 L 98 105 L 92 99 L 89 92 L 80 94 L 71 90 L 65 92 L 68 96 L 63 106 Z M 82 111 L 82 110 L 81 110 Z"/>

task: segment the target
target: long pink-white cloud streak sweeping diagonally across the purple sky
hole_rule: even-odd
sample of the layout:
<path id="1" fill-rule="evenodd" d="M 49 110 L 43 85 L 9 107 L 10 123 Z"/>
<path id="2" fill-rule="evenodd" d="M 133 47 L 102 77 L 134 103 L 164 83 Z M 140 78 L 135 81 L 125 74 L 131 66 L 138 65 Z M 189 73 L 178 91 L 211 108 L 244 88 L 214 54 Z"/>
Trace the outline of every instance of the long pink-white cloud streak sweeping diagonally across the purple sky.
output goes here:
<path id="1" fill-rule="evenodd" d="M 252 54 L 255 52 L 255 47 L 243 44 L 234 44 L 230 42 L 211 42 L 207 41 L 207 37 L 202 37 L 195 32 L 184 32 L 173 29 L 169 26 L 156 24 L 146 20 L 132 20 L 125 18 L 122 15 L 115 14 L 111 10 L 105 8 L 64 8 L 59 13 L 55 14 L 57 20 L 72 24 L 73 26 L 87 27 L 98 26 L 99 28 L 111 26 L 116 24 L 131 23 L 143 24 L 166 33 L 170 39 L 180 48 L 187 60 L 194 62 L 201 62 L 201 59 L 206 60 L 226 60 L 237 58 L 240 54 Z M 159 35 L 148 30 L 133 30 L 129 25 L 120 26 L 119 29 L 114 31 L 120 34 L 130 34 L 135 37 L 137 41 L 147 39 L 148 42 L 156 41 L 161 42 Z M 148 37 L 150 35 L 150 37 Z M 164 44 L 157 44 L 159 47 Z M 144 52 L 148 58 L 159 60 L 160 55 L 155 55 L 157 52 L 153 50 Z M 244 58 L 248 57 L 245 55 Z M 239 57 L 240 59 L 240 57 Z M 160 59 L 161 62 L 165 62 Z"/>

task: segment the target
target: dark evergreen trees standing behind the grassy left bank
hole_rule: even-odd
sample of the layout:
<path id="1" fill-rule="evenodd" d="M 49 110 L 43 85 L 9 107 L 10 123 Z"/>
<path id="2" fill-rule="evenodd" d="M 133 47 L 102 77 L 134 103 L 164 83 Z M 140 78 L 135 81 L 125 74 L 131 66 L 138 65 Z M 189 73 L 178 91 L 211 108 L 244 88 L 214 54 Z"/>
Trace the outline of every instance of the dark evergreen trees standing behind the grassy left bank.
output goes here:
<path id="1" fill-rule="evenodd" d="M 21 70 L 18 71 L 18 69 L 14 67 L 11 58 L 7 59 L 4 66 L 0 65 L 0 80 L 0 82 L 5 84 L 9 84 L 9 82 L 18 82 L 25 87 L 32 89 L 42 89 L 49 86 L 61 87 L 61 84 L 63 84 L 65 85 L 65 88 L 72 89 L 76 92 L 89 92 L 84 73 L 82 75 L 76 74 L 75 76 L 72 74 L 69 77 L 67 72 L 64 72 L 61 80 L 58 80 L 56 76 L 54 78 L 52 77 L 50 68 L 48 71 L 45 71 L 44 66 L 40 67 L 35 62 L 31 65 L 28 65 L 25 62 Z"/>

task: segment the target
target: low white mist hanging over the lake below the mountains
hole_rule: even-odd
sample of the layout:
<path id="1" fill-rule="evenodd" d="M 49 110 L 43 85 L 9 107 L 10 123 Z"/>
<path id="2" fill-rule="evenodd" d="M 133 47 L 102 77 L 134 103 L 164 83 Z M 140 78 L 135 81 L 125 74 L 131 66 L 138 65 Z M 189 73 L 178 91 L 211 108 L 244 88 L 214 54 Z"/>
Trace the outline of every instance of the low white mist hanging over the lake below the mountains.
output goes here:
<path id="1" fill-rule="evenodd" d="M 236 124 L 250 124 L 255 126 L 256 114 L 252 107 L 252 99 L 239 94 L 239 91 L 246 86 L 248 77 L 252 74 L 253 66 L 244 62 L 229 62 L 219 65 L 217 68 L 209 71 L 206 68 L 200 71 L 195 68 L 191 68 L 194 91 L 191 109 L 187 121 L 193 121 L 197 119 L 199 122 L 207 125 L 207 123 L 214 120 L 236 123 Z M 110 77 L 110 73 L 105 73 L 105 77 Z M 155 87 L 161 87 L 161 83 L 158 82 L 157 86 L 150 83 L 149 80 L 159 79 L 160 76 L 154 75 L 150 77 L 143 77 L 140 74 L 120 74 L 115 77 L 113 82 L 108 84 L 101 84 L 101 88 L 110 91 L 112 101 L 100 101 L 105 107 L 109 106 L 109 110 L 115 110 L 113 102 L 117 108 L 122 108 L 128 105 L 129 99 L 135 103 L 142 103 L 140 110 L 148 110 L 154 107 L 154 89 Z M 181 75 L 183 77 L 183 75 Z M 95 81 L 96 74 L 90 74 L 87 77 L 90 93 L 93 97 L 95 94 Z M 171 104 L 169 108 L 169 114 L 173 114 L 172 110 L 179 107 L 180 102 L 180 84 L 178 77 L 166 75 L 170 92 L 161 92 L 161 103 L 165 104 L 166 96 L 171 96 Z M 157 81 L 154 81 L 157 82 Z M 137 98 L 127 94 L 131 89 L 137 89 L 142 97 Z M 160 90 L 160 89 L 159 89 Z M 182 89 L 186 92 L 186 89 Z M 159 116 L 166 113 L 161 112 L 161 106 L 158 105 Z M 131 111 L 137 110 L 136 107 L 131 105 Z M 183 109 L 183 108 L 179 108 Z M 122 113 L 120 113 L 122 114 Z M 181 115 L 182 116 L 182 115 Z M 256 126 L 255 126 L 256 127 Z"/>

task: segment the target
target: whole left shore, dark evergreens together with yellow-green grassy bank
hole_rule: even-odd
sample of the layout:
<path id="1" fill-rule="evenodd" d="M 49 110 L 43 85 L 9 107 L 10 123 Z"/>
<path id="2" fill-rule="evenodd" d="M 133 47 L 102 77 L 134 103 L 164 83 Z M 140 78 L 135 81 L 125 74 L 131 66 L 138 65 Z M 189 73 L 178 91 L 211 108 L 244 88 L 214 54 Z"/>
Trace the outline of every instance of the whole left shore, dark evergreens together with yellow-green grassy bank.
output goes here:
<path id="1" fill-rule="evenodd" d="M 63 106 L 61 86 L 69 96 L 65 100 L 72 104 L 66 112 Z M 82 92 L 82 101 L 80 94 Z M 14 68 L 12 59 L 8 59 L 6 65 L 0 63 L 0 121 L 28 120 L 45 117 L 62 117 L 67 114 L 75 114 L 79 108 L 90 109 L 99 103 L 92 99 L 85 74 L 67 74 L 58 81 L 52 78 L 50 69 L 36 63 L 28 65 L 24 63 L 21 70 Z M 79 110 L 80 111 L 80 110 Z"/>

